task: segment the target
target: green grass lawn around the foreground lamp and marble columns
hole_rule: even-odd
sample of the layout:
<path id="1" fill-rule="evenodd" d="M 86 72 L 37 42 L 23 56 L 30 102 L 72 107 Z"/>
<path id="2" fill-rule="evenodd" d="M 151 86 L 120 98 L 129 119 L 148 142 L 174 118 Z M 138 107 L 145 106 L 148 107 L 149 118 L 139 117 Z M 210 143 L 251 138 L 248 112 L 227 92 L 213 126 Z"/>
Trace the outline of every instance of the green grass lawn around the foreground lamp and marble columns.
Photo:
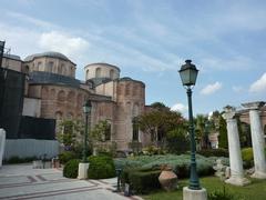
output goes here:
<path id="1" fill-rule="evenodd" d="M 207 192 L 222 190 L 225 186 L 226 192 L 238 196 L 239 200 L 266 200 L 266 180 L 250 179 L 252 183 L 245 187 L 235 187 L 223 183 L 216 177 L 201 178 L 201 184 Z M 173 192 L 165 192 L 163 190 L 143 196 L 145 200 L 182 200 L 182 189 L 188 184 L 188 180 L 180 180 L 178 189 Z"/>

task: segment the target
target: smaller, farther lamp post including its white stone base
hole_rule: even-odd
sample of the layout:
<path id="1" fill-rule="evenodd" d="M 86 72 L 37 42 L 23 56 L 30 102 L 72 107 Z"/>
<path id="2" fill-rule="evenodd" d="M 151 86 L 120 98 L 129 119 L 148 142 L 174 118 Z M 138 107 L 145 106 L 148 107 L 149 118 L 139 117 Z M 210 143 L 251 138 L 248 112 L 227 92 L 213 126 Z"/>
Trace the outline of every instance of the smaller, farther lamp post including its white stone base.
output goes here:
<path id="1" fill-rule="evenodd" d="M 86 159 L 86 151 L 88 151 L 88 128 L 89 128 L 89 116 L 91 114 L 92 104 L 90 100 L 86 100 L 83 104 L 83 112 L 85 114 L 85 132 L 84 132 L 84 144 L 83 144 L 83 152 L 82 152 L 82 162 L 79 163 L 79 176 L 78 179 L 86 179 L 88 178 L 88 169 L 89 163 Z"/>

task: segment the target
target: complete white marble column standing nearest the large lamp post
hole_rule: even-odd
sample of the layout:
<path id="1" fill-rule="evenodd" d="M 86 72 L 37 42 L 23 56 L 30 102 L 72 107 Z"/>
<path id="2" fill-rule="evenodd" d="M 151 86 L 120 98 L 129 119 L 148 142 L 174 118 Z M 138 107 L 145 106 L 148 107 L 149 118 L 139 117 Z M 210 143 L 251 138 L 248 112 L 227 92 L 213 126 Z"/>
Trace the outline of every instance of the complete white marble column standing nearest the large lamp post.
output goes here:
<path id="1" fill-rule="evenodd" d="M 231 177 L 225 182 L 235 186 L 245 186 L 249 180 L 244 177 L 243 160 L 241 153 L 241 142 L 237 129 L 237 121 L 235 119 L 235 108 L 225 107 L 223 118 L 227 123 L 227 138 L 229 149 Z"/>

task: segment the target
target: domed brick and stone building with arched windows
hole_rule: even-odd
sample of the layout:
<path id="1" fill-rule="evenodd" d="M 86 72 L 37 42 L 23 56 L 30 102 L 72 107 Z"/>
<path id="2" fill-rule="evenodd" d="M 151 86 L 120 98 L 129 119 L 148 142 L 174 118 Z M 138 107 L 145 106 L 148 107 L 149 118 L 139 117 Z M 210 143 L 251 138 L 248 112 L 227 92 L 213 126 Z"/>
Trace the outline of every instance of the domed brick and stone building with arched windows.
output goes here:
<path id="1" fill-rule="evenodd" d="M 31 54 L 24 60 L 3 56 L 2 68 L 25 73 L 22 116 L 44 119 L 84 119 L 82 106 L 92 102 L 91 127 L 101 120 L 111 126 L 110 138 L 119 150 L 131 141 L 149 142 L 133 130 L 134 117 L 145 111 L 145 84 L 120 78 L 120 68 L 109 63 L 84 67 L 85 81 L 75 79 L 76 64 L 60 52 Z"/>

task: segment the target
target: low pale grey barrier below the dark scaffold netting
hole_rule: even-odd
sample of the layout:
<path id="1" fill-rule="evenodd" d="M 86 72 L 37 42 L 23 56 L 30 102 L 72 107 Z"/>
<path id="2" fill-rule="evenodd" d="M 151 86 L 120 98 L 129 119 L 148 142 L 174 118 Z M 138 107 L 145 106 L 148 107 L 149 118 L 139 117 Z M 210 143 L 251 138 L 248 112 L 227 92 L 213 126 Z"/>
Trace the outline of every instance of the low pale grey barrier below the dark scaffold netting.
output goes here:
<path id="1" fill-rule="evenodd" d="M 57 157 L 59 153 L 59 142 L 57 140 L 35 140 L 35 139 L 18 139 L 6 140 L 4 159 L 18 156 L 25 157 Z"/>

